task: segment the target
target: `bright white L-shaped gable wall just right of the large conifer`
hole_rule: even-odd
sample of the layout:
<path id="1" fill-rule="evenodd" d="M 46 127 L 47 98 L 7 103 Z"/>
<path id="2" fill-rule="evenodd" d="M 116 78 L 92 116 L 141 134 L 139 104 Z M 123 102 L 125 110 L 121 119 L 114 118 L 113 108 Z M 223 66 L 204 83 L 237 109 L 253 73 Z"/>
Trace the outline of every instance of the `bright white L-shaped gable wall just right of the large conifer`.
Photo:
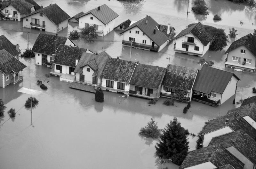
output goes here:
<path id="1" fill-rule="evenodd" d="M 230 132 L 233 132 L 233 130 L 230 127 L 227 126 L 227 127 L 221 128 L 219 130 L 215 130 L 215 131 L 212 131 L 210 133 L 204 134 L 203 146 L 207 147 L 209 145 L 209 143 L 211 142 L 212 137 L 217 137 L 217 136 L 227 134 L 227 133 L 230 133 Z"/>

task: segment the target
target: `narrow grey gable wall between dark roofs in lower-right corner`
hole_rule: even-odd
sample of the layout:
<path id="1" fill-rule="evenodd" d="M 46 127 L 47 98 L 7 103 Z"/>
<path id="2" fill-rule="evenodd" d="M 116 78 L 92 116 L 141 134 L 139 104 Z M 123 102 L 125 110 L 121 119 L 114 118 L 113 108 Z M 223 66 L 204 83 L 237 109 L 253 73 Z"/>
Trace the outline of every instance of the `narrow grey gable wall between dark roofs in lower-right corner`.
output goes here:
<path id="1" fill-rule="evenodd" d="M 244 169 L 253 169 L 253 163 L 247 157 L 245 157 L 240 151 L 238 151 L 234 146 L 226 148 L 231 154 L 244 163 Z"/>

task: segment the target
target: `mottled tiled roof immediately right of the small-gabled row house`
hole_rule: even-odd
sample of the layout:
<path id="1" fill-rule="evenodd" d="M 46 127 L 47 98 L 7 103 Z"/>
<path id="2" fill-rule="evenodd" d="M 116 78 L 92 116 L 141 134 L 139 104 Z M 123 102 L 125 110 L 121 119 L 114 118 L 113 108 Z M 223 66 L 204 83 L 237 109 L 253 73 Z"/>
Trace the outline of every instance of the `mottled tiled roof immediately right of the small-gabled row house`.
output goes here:
<path id="1" fill-rule="evenodd" d="M 135 66 L 136 62 L 108 58 L 106 66 L 102 72 L 102 78 L 129 83 Z"/>

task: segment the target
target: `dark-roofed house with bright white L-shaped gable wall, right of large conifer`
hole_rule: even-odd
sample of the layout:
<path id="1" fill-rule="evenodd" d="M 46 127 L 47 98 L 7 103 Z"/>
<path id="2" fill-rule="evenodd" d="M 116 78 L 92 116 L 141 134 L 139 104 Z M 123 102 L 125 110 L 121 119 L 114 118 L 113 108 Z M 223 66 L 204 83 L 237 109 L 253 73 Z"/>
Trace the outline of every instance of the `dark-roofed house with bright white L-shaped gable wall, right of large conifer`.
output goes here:
<path id="1" fill-rule="evenodd" d="M 203 146 L 207 147 L 213 137 L 243 129 L 250 137 L 256 139 L 256 130 L 238 113 L 233 112 L 208 121 L 201 135 L 204 136 Z"/>

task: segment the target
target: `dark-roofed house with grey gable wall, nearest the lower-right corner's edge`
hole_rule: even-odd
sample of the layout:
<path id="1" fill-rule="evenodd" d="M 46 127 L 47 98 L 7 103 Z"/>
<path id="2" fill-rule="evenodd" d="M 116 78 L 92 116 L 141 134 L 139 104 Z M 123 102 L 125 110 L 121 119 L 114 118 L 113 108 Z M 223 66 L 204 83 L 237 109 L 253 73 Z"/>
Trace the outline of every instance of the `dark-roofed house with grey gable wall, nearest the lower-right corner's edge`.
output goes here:
<path id="1" fill-rule="evenodd" d="M 213 137 L 209 145 L 221 144 L 226 150 L 244 163 L 244 168 L 254 169 L 256 165 L 256 141 L 244 130 Z"/>

